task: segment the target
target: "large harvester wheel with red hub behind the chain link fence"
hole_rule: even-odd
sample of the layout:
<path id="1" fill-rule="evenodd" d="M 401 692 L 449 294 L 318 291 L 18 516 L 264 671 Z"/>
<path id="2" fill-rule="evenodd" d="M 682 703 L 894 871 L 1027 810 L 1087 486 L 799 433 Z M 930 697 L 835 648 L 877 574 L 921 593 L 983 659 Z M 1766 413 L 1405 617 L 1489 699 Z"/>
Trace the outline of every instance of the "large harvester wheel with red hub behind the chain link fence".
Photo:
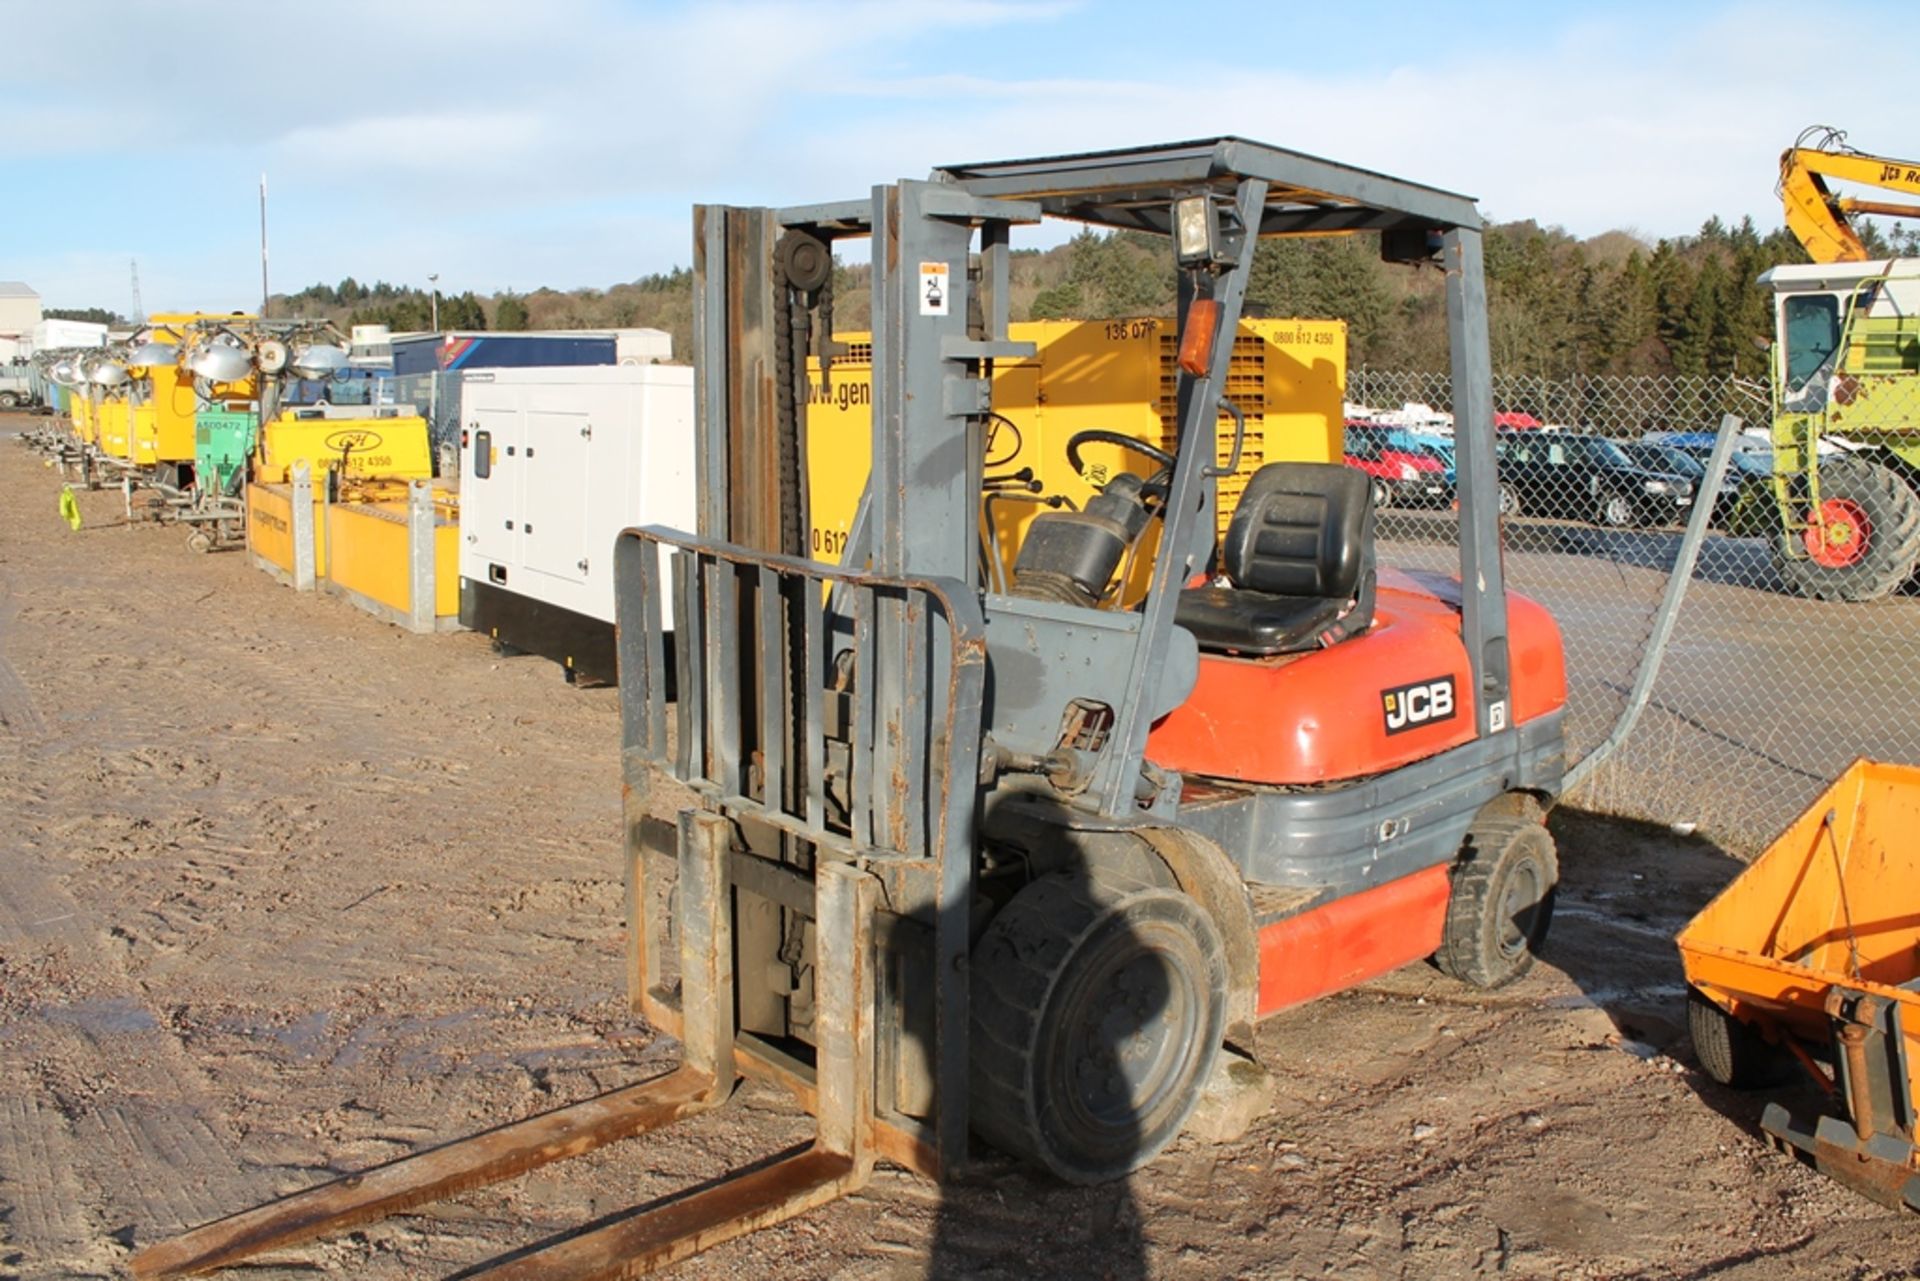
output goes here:
<path id="1" fill-rule="evenodd" d="M 1876 601 L 1907 582 L 1920 563 L 1920 497 L 1893 471 L 1868 459 L 1839 459 L 1820 469 L 1820 505 L 1864 522 L 1857 549 L 1780 555 L 1780 578 L 1816 601 Z M 1824 559 L 1824 563 L 1822 563 Z"/>

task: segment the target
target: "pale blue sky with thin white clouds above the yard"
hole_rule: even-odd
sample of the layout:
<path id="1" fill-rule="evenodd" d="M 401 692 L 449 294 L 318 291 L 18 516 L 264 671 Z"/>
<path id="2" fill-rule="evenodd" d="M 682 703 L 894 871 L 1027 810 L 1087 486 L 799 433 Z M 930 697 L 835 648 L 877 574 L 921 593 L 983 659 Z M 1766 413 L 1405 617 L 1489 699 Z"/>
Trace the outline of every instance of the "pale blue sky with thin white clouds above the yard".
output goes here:
<path id="1" fill-rule="evenodd" d="M 1807 125 L 1920 154 L 1912 0 L 0 0 L 0 278 L 48 307 L 685 265 L 689 207 L 1238 134 L 1592 236 L 1780 225 Z"/>

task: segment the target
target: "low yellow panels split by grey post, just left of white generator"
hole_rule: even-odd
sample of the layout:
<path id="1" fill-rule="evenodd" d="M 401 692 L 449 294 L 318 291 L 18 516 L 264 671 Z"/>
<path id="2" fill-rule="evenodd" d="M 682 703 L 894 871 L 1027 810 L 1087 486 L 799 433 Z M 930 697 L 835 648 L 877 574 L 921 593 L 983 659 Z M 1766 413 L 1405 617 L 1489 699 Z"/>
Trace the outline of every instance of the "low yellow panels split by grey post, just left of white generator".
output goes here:
<path id="1" fill-rule="evenodd" d="M 397 490 L 397 494 L 394 494 Z M 399 626 L 413 620 L 413 572 L 405 486 L 380 486 L 371 501 L 326 507 L 326 590 Z M 434 622 L 453 630 L 461 615 L 459 499 L 434 492 Z"/>

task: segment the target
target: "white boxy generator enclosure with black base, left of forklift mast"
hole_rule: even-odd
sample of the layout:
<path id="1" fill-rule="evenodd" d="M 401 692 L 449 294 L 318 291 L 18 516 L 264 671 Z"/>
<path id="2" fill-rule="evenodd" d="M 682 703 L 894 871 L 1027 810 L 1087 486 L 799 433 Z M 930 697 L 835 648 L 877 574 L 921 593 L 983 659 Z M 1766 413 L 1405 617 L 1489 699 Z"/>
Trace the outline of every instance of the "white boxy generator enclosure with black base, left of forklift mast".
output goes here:
<path id="1" fill-rule="evenodd" d="M 611 684 L 614 540 L 695 520 L 691 369 L 463 378 L 461 624 Z"/>

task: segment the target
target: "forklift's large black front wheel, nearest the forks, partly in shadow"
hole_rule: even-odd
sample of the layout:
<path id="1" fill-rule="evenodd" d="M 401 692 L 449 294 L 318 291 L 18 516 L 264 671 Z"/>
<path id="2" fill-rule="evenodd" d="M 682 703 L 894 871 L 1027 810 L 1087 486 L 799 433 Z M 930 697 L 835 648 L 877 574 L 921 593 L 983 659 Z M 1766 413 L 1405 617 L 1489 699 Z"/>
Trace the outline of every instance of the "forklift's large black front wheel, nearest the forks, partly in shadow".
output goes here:
<path id="1" fill-rule="evenodd" d="M 972 1120 L 1068 1183 L 1139 1170 L 1187 1124 L 1227 1022 L 1227 953 L 1179 889 L 1050 874 L 973 951 Z"/>

